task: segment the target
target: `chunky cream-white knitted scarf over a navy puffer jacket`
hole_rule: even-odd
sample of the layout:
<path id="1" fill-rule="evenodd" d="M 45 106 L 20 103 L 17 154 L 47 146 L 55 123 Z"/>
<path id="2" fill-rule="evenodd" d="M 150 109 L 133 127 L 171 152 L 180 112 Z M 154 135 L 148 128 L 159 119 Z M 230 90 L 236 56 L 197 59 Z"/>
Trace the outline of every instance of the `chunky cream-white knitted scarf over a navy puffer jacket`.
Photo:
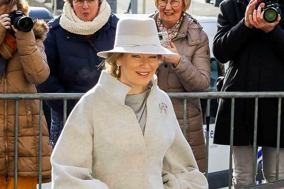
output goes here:
<path id="1" fill-rule="evenodd" d="M 99 8 L 99 14 L 94 20 L 85 22 L 76 16 L 73 7 L 67 0 L 63 6 L 63 14 L 60 17 L 59 24 L 69 32 L 80 35 L 91 35 L 106 24 L 110 12 L 110 5 L 106 0 L 103 0 Z"/>

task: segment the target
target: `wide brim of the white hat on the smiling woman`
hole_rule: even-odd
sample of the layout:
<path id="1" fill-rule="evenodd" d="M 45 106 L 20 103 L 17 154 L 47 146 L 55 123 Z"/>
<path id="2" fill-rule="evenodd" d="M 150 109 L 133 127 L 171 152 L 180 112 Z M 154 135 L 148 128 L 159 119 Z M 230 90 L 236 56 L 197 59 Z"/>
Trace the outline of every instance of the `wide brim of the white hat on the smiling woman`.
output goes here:
<path id="1" fill-rule="evenodd" d="M 124 46 L 114 47 L 112 50 L 98 52 L 98 56 L 106 58 L 108 53 L 137 53 L 137 54 L 161 54 L 161 55 L 178 55 L 162 46 L 154 45 L 137 45 L 137 46 Z"/>

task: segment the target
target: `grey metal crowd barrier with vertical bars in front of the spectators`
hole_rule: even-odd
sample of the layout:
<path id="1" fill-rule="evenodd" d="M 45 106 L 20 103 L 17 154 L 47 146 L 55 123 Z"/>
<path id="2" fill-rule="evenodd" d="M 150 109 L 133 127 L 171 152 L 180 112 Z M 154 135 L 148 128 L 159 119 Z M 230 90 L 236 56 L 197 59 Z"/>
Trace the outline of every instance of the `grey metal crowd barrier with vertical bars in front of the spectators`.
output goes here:
<path id="1" fill-rule="evenodd" d="M 41 168 L 42 168 L 42 115 L 43 115 L 43 100 L 55 100 L 62 99 L 64 105 L 64 124 L 66 122 L 67 114 L 67 100 L 80 99 L 83 94 L 0 94 L 0 99 L 14 99 L 15 100 L 15 170 L 14 170 L 14 188 L 17 189 L 17 173 L 18 173 L 18 101 L 23 99 L 39 99 L 39 189 L 41 189 Z M 254 143 L 253 153 L 254 162 L 257 158 L 256 151 L 256 133 L 257 133 L 257 112 L 258 112 L 258 98 L 278 98 L 278 125 L 277 125 L 277 155 L 276 155 L 276 180 L 279 179 L 279 147 L 280 147 L 280 121 L 281 121 L 281 98 L 284 97 L 284 92 L 203 92 L 203 93 L 168 93 L 170 98 L 184 99 L 184 114 L 183 114 L 183 134 L 185 136 L 186 131 L 186 109 L 187 99 L 189 98 L 206 98 L 207 99 L 207 112 L 206 112 L 206 172 L 205 177 L 208 180 L 208 155 L 209 155 L 209 121 L 210 121 L 210 100 L 213 98 L 231 98 L 231 140 L 230 140 L 230 161 L 229 161 L 229 189 L 231 189 L 232 182 L 232 154 L 233 154 L 233 131 L 234 131 L 234 109 L 235 98 L 254 98 L 255 99 L 255 118 L 254 118 Z M 253 170 L 256 170 L 257 165 L 253 165 Z M 253 171 L 252 170 L 252 171 Z M 256 177 L 255 171 L 253 171 L 252 180 Z M 254 184 L 254 183 L 252 183 Z"/>

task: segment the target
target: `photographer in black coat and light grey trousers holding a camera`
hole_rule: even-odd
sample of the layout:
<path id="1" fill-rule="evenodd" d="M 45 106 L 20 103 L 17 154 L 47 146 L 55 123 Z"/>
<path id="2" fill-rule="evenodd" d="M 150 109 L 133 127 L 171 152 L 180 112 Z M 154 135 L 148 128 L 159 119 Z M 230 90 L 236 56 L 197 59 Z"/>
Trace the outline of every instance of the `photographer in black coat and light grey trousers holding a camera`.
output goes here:
<path id="1" fill-rule="evenodd" d="M 282 2 L 225 0 L 220 4 L 213 53 L 229 62 L 222 92 L 284 91 L 284 22 Z M 284 108 L 282 99 L 279 179 L 284 178 Z M 255 99 L 235 99 L 233 188 L 252 179 Z M 257 145 L 262 146 L 265 182 L 275 180 L 278 99 L 258 99 Z M 230 145 L 231 99 L 221 99 L 214 144 Z M 257 159 L 257 158 L 255 158 Z"/>

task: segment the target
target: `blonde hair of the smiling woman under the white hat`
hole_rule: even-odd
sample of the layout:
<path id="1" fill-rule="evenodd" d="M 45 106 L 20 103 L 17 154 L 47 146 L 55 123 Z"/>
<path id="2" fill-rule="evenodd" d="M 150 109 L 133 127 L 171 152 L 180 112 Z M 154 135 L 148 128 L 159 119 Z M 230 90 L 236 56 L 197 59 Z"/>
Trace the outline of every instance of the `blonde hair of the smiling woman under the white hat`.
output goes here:
<path id="1" fill-rule="evenodd" d="M 112 52 L 109 53 L 107 58 L 105 59 L 104 62 L 104 69 L 106 72 L 108 72 L 110 75 L 113 77 L 119 78 L 120 77 L 120 68 L 118 74 L 116 74 L 117 70 L 117 61 L 120 60 L 126 53 L 117 53 L 117 52 Z M 158 55 L 158 63 L 162 63 L 162 55 Z"/>

